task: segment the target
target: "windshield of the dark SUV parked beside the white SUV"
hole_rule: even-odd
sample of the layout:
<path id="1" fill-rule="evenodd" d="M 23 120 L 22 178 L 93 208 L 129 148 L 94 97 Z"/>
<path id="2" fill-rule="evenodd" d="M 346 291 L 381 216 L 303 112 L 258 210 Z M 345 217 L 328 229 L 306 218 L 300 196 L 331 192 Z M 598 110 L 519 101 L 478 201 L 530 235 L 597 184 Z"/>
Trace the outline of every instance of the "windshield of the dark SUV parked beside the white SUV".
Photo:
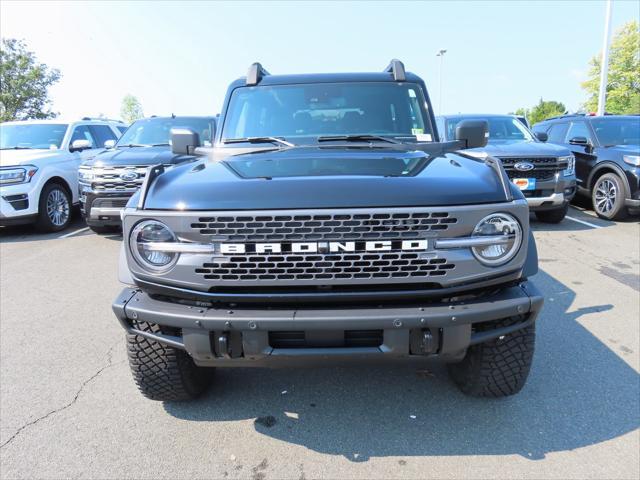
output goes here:
<path id="1" fill-rule="evenodd" d="M 129 145 L 169 145 L 172 128 L 190 128 L 200 135 L 203 146 L 211 146 L 213 120 L 198 117 L 145 118 L 131 125 L 118 140 L 118 147 Z"/>

